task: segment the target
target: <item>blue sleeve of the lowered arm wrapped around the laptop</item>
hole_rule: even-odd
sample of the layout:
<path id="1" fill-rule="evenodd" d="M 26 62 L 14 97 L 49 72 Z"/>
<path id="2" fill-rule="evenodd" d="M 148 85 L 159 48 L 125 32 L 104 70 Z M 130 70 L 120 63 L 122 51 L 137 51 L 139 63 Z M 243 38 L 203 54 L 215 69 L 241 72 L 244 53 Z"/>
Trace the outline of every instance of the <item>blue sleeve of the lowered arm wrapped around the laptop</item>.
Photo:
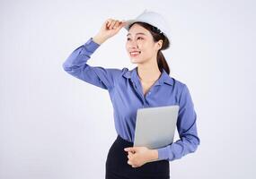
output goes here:
<path id="1" fill-rule="evenodd" d="M 177 119 L 177 130 L 180 135 L 180 140 L 157 149 L 158 160 L 167 159 L 172 161 L 196 151 L 200 144 L 196 121 L 197 114 L 194 110 L 192 98 L 190 97 L 190 91 L 186 84 L 184 84 L 181 92 L 180 110 Z"/>

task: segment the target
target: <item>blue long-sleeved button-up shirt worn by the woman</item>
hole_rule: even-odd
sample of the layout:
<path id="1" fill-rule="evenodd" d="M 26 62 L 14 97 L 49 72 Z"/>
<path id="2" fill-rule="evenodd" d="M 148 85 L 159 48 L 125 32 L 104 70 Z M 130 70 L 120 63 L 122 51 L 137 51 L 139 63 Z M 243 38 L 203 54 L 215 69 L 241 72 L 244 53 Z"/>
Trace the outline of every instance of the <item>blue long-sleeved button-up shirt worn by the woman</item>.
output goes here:
<path id="1" fill-rule="evenodd" d="M 124 67 L 103 68 L 87 64 L 93 52 L 100 47 L 87 40 L 77 47 L 63 64 L 63 68 L 76 78 L 108 90 L 114 111 L 116 132 L 123 139 L 134 142 L 137 109 L 142 107 L 163 107 L 179 105 L 177 130 L 180 140 L 158 150 L 158 159 L 172 161 L 194 152 L 199 145 L 197 115 L 186 84 L 170 77 L 163 70 L 160 78 L 143 94 L 138 78 L 137 67 L 132 70 Z"/>

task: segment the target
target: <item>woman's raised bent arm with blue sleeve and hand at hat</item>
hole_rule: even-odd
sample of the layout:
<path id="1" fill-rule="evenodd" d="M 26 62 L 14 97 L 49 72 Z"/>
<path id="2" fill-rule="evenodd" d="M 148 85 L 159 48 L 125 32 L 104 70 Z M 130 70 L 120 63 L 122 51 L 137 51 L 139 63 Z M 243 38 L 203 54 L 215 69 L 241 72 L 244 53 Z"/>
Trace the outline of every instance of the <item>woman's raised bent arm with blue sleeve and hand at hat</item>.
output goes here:
<path id="1" fill-rule="evenodd" d="M 62 64 L 63 69 L 82 81 L 91 83 L 104 90 L 111 90 L 115 85 L 115 79 L 122 70 L 116 68 L 103 68 L 92 66 L 87 61 L 93 52 L 108 38 L 115 35 L 125 23 L 107 20 L 96 36 L 87 40 L 84 45 L 77 47 Z"/>

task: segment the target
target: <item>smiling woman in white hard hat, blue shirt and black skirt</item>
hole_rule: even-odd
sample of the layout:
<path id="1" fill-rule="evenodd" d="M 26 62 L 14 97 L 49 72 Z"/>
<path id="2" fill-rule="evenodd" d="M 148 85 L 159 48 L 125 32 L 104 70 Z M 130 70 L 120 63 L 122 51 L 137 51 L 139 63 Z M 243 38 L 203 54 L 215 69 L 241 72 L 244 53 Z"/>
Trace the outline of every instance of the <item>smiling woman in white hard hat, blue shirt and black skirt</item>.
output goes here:
<path id="1" fill-rule="evenodd" d="M 132 70 L 87 64 L 93 52 L 121 28 L 128 30 L 126 49 Z M 197 115 L 186 84 L 169 76 L 162 50 L 170 47 L 170 32 L 159 13 L 145 11 L 131 21 L 108 19 L 101 30 L 68 56 L 63 68 L 76 78 L 108 90 L 114 108 L 117 139 L 106 160 L 108 179 L 170 178 L 169 161 L 194 152 L 199 145 Z M 110 50 L 114 54 L 114 50 Z M 133 147 L 137 109 L 179 105 L 181 140 L 159 149 Z"/>

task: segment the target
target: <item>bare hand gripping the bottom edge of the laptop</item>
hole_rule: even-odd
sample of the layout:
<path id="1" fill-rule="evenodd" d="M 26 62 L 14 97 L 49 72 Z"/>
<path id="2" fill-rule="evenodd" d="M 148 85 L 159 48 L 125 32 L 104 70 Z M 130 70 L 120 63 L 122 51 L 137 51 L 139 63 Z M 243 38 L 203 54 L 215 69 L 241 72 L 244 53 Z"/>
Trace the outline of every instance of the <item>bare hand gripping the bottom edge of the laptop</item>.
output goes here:
<path id="1" fill-rule="evenodd" d="M 158 157 L 155 155 L 156 153 L 154 153 L 157 151 L 146 147 L 130 147 L 124 150 L 128 151 L 128 165 L 132 167 L 143 166 Z"/>

